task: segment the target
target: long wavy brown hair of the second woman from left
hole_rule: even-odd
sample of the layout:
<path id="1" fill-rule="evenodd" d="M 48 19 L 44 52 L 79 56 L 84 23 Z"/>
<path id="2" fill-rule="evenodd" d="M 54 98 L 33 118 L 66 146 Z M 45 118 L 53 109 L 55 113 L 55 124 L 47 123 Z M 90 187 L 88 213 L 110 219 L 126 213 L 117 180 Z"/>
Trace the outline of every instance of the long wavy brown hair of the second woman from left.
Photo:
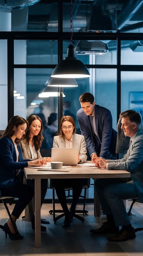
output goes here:
<path id="1" fill-rule="evenodd" d="M 43 141 L 43 135 L 42 135 L 43 124 L 42 124 L 41 118 L 39 116 L 30 115 L 27 118 L 27 121 L 28 121 L 29 125 L 28 125 L 28 130 L 26 132 L 26 135 L 24 136 L 24 139 L 26 139 L 26 143 L 29 144 L 29 141 L 30 141 L 30 126 L 32 124 L 32 121 L 35 121 L 37 119 L 41 122 L 41 130 L 39 131 L 37 136 L 33 137 L 33 144 L 34 144 L 36 150 L 38 150 L 41 147 L 41 144 L 42 144 L 42 141 Z"/>

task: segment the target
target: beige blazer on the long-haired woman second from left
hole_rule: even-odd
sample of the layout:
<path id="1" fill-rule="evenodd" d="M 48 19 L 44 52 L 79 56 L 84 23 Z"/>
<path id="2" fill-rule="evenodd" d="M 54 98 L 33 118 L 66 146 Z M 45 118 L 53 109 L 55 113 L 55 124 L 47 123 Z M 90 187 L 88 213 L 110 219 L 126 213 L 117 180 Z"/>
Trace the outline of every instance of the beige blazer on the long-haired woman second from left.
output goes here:
<path id="1" fill-rule="evenodd" d="M 30 148 L 29 148 L 28 144 L 26 143 L 26 139 L 23 139 L 22 141 L 20 141 L 19 145 L 20 145 L 20 148 L 22 150 L 23 158 L 24 159 L 32 159 L 31 158 L 31 153 L 30 153 Z M 42 158 L 41 153 L 40 153 L 40 149 L 37 150 L 37 154 L 38 154 L 38 159 Z M 35 158 L 35 159 L 37 159 L 37 158 Z"/>

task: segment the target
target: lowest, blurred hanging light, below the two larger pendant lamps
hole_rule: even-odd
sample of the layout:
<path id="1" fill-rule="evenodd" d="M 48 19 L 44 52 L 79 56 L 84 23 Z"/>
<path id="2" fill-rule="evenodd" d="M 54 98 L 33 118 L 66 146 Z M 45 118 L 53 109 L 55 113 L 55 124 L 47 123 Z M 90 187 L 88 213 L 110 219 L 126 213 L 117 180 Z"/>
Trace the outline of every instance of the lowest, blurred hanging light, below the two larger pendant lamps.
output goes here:
<path id="1" fill-rule="evenodd" d="M 65 97 L 65 94 L 63 92 L 62 94 L 63 94 L 63 97 Z M 59 97 L 59 96 L 60 96 L 60 92 L 58 92 L 57 88 L 55 87 L 52 88 L 48 86 L 45 86 L 43 91 L 38 95 L 39 98 L 49 98 L 49 97 Z"/>

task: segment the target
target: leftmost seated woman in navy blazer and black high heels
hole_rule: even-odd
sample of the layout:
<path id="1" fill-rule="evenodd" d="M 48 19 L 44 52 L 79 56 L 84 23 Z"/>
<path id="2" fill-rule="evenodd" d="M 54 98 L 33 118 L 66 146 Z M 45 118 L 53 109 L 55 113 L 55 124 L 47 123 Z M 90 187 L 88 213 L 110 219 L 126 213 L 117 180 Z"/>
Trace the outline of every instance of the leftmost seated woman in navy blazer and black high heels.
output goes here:
<path id="1" fill-rule="evenodd" d="M 0 225 L 9 238 L 12 240 L 22 239 L 16 226 L 16 220 L 22 211 L 32 200 L 34 191 L 31 186 L 18 182 L 20 169 L 27 166 L 40 166 L 45 163 L 43 159 L 31 161 L 23 159 L 19 140 L 23 137 L 28 126 L 28 121 L 20 116 L 10 119 L 6 130 L 0 138 L 0 190 L 1 196 L 18 198 L 9 219 L 4 226 Z"/>

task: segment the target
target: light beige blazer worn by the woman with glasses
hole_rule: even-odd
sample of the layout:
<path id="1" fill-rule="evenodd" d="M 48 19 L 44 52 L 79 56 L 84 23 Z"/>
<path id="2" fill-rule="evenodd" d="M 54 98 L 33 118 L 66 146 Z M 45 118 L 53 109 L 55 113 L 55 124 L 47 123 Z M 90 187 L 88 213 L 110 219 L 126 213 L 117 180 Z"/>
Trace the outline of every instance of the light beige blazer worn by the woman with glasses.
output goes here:
<path id="1" fill-rule="evenodd" d="M 80 134 L 73 134 L 73 148 L 78 148 L 78 154 L 80 154 L 81 162 L 87 161 L 87 148 L 85 143 L 85 137 Z M 65 136 L 54 136 L 53 148 L 65 148 Z"/>

